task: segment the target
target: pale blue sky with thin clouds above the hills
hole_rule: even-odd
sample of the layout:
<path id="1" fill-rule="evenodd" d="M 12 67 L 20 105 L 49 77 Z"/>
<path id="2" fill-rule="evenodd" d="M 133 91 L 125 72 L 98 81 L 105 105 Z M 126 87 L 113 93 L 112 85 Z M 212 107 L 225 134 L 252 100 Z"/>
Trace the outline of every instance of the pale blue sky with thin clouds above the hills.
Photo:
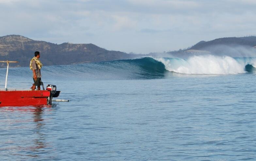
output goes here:
<path id="1" fill-rule="evenodd" d="M 147 54 L 256 34 L 256 0 L 0 0 L 0 36 Z"/>

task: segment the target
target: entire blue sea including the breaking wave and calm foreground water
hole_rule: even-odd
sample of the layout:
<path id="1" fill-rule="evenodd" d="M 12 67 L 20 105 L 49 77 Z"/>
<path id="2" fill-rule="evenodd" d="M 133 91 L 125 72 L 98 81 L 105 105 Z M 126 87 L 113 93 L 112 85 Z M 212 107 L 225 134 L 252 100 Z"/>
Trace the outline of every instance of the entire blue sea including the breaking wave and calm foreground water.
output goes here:
<path id="1" fill-rule="evenodd" d="M 0 108 L 1 161 L 256 160 L 255 67 L 213 55 L 43 66 L 70 101 Z M 8 88 L 32 82 L 9 69 Z"/>

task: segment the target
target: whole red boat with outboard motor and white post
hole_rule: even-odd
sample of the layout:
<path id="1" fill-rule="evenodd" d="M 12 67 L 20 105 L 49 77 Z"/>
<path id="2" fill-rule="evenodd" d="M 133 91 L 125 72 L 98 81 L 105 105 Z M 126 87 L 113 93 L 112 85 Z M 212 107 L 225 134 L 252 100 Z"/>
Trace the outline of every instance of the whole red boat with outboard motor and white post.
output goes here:
<path id="1" fill-rule="evenodd" d="M 7 62 L 7 73 L 5 89 L 0 90 L 0 107 L 4 106 L 37 106 L 51 105 L 53 97 L 58 97 L 60 91 L 56 90 L 55 85 L 47 85 L 46 90 L 19 90 L 7 88 L 7 77 L 9 62 L 17 61 L 0 61 Z"/>

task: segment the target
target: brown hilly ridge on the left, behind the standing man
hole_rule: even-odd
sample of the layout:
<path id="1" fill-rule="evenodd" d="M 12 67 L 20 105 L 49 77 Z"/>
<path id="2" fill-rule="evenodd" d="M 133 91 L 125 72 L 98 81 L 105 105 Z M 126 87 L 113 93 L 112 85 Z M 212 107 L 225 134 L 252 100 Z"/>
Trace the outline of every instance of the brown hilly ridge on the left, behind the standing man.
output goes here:
<path id="1" fill-rule="evenodd" d="M 29 66 L 34 52 L 40 51 L 43 65 L 65 65 L 73 63 L 100 62 L 136 57 L 120 51 L 109 51 L 94 44 L 53 44 L 32 40 L 21 35 L 0 37 L 0 60 L 16 60 L 10 66 Z M 5 67 L 1 63 L 0 67 Z"/>

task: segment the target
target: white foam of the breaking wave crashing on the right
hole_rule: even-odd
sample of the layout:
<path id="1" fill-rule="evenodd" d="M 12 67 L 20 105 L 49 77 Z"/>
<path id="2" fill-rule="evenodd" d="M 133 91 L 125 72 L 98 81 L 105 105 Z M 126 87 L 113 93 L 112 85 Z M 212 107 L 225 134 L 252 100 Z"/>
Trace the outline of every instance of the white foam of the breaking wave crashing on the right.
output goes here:
<path id="1" fill-rule="evenodd" d="M 192 56 L 184 59 L 157 58 L 166 69 L 182 74 L 239 74 L 245 73 L 244 66 L 229 56 Z"/>

